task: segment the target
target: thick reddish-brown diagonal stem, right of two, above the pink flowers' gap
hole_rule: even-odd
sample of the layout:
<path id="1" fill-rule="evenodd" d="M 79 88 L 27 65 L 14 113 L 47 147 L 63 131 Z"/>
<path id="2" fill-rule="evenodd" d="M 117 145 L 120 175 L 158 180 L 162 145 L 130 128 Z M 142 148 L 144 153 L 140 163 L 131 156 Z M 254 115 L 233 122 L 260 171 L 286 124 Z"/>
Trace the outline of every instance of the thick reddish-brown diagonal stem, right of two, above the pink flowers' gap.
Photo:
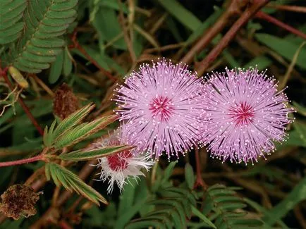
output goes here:
<path id="1" fill-rule="evenodd" d="M 252 16 L 257 13 L 257 11 L 260 10 L 264 5 L 266 5 L 269 2 L 269 0 L 257 0 L 253 1 L 253 4 L 247 8 L 236 20 L 236 22 L 233 24 L 233 26 L 226 32 L 226 35 L 222 37 L 220 42 L 210 51 L 210 53 L 202 60 L 200 63 L 196 64 L 196 70 L 198 75 L 202 75 L 204 71 L 209 67 L 209 65 L 214 62 L 214 60 L 221 54 L 221 52 L 228 46 L 228 43 L 231 42 L 231 40 L 235 37 L 237 32 L 240 30 L 240 27 L 242 27 L 245 23 L 247 23 Z"/>

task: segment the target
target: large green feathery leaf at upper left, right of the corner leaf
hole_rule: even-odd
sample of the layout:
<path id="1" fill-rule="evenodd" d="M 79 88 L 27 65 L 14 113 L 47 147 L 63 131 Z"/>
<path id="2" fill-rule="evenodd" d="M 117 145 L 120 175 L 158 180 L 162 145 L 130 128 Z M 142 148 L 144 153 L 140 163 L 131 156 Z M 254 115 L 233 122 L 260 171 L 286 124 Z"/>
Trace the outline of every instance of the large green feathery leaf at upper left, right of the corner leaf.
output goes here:
<path id="1" fill-rule="evenodd" d="M 23 1 L 23 6 L 27 6 L 23 15 L 25 30 L 6 62 L 27 73 L 39 73 L 42 69 L 49 68 L 63 49 L 65 42 L 61 35 L 65 34 L 68 26 L 75 20 L 76 4 L 78 0 L 31 0 L 27 4 Z M 18 30 L 14 30 L 14 35 L 18 35 L 16 31 L 23 29 L 23 25 L 13 26 L 19 26 Z M 6 36 L 11 36 L 7 30 Z M 55 78 L 52 78 L 53 81 Z"/>

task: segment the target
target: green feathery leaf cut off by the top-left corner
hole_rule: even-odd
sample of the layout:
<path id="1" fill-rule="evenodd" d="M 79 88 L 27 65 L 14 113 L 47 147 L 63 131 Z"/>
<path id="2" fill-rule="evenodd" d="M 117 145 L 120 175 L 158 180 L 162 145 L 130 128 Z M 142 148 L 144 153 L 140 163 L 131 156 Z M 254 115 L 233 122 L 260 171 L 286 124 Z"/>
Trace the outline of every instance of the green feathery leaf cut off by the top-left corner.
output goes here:
<path id="1" fill-rule="evenodd" d="M 25 0 L 0 1 L 0 44 L 15 42 L 20 37 L 25 6 Z"/>

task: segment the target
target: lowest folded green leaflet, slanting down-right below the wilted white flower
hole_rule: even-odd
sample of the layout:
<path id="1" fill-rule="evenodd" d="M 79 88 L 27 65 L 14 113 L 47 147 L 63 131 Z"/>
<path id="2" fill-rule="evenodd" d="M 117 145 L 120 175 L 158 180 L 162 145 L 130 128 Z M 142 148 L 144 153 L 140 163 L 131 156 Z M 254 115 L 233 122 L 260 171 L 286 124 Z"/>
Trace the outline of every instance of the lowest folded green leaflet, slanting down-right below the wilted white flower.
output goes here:
<path id="1" fill-rule="evenodd" d="M 77 175 L 68 171 L 67 168 L 56 163 L 47 163 L 45 168 L 47 180 L 52 178 L 56 186 L 63 185 L 66 190 L 75 191 L 83 197 L 89 199 L 94 204 L 99 205 L 99 202 L 107 204 L 106 199 L 99 192 L 87 185 L 84 181 L 78 178 Z"/>

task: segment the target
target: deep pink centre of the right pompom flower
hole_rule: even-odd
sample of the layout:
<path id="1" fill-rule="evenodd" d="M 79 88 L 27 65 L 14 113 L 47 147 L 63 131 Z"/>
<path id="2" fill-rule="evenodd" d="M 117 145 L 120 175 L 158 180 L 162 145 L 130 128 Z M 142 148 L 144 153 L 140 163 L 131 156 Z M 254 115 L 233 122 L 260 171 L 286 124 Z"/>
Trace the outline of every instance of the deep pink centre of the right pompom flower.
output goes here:
<path id="1" fill-rule="evenodd" d="M 248 125 L 252 123 L 254 111 L 252 106 L 246 102 L 240 103 L 238 106 L 231 106 L 229 109 L 230 116 L 233 118 L 235 125 Z"/>

